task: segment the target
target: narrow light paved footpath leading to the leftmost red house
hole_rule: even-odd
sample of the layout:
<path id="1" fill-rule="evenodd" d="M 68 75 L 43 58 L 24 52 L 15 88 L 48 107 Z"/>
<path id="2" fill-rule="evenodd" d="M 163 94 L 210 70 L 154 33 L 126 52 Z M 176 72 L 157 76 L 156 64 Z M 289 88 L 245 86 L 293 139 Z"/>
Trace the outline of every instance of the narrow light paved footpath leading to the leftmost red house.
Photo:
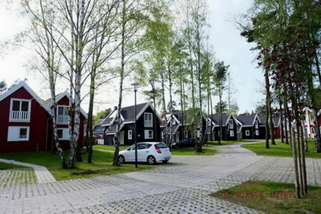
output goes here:
<path id="1" fill-rule="evenodd" d="M 16 165 L 27 166 L 27 167 L 33 168 L 35 171 L 38 183 L 49 183 L 49 182 L 56 181 L 54 176 L 52 176 L 52 174 L 44 166 L 39 166 L 39 165 L 35 165 L 35 164 L 30 164 L 30 163 L 23 163 L 23 162 L 19 162 L 19 161 L 15 161 L 15 160 L 7 160 L 7 159 L 2 159 L 2 158 L 0 158 L 0 162 L 12 163 L 12 164 L 16 164 Z"/>

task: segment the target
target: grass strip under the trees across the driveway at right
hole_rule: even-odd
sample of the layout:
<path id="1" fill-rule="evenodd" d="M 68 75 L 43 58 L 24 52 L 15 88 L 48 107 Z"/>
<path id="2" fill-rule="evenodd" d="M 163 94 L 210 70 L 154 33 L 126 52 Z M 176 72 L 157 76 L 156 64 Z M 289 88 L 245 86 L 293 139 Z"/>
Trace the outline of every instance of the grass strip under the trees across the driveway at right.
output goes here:
<path id="1" fill-rule="evenodd" d="M 305 157 L 307 157 L 307 158 L 321 158 L 321 153 L 315 153 L 314 141 L 311 139 L 308 139 L 307 142 L 308 142 L 309 151 L 305 152 Z M 276 142 L 276 145 L 270 144 L 270 149 L 265 149 L 265 142 L 242 145 L 242 147 L 255 152 L 257 155 L 292 157 L 290 145 L 285 144 L 285 143 L 281 143 L 279 141 Z"/>

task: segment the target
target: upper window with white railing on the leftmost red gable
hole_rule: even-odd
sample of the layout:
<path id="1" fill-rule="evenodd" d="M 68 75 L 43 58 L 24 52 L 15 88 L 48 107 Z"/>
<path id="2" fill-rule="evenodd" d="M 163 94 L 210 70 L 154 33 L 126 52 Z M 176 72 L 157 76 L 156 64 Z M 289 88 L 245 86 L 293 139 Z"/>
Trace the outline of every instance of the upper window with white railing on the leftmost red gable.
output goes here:
<path id="1" fill-rule="evenodd" d="M 30 122 L 31 100 L 11 99 L 9 122 Z"/>

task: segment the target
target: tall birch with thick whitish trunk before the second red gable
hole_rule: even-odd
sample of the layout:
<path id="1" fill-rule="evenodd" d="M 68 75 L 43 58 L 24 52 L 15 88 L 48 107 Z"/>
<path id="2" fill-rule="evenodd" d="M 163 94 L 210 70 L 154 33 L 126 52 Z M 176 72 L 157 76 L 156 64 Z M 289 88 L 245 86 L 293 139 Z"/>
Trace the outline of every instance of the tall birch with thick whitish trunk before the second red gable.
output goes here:
<path id="1" fill-rule="evenodd" d="M 100 15 L 103 20 L 118 4 L 118 0 L 112 0 L 109 4 L 109 10 L 103 11 L 102 5 L 106 2 L 102 0 L 58 0 L 52 2 L 51 7 L 57 17 L 57 21 L 52 25 L 53 30 L 46 25 L 38 6 L 42 0 L 21 0 L 23 6 L 35 20 L 37 20 L 43 29 L 52 39 L 57 50 L 62 55 L 66 72 L 60 77 L 67 80 L 70 84 L 70 110 L 69 110 L 69 141 L 70 152 L 68 158 L 68 167 L 75 168 L 76 151 L 79 139 L 80 117 L 81 117 L 81 88 L 88 78 L 86 75 L 86 65 L 88 65 L 90 56 L 96 47 L 92 46 L 92 42 L 96 37 L 95 29 L 99 27 L 99 22 L 94 19 Z M 101 13 L 100 13 L 101 12 Z M 78 150 L 79 151 L 79 150 Z"/>

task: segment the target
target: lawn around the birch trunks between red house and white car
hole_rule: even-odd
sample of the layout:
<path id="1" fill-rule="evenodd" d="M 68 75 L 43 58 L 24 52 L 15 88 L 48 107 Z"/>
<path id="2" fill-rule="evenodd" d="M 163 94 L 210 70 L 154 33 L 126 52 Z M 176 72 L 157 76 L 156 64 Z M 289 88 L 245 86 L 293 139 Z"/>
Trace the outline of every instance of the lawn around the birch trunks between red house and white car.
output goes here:
<path id="1" fill-rule="evenodd" d="M 68 151 L 65 151 L 65 158 L 68 159 Z M 58 155 L 52 155 L 50 152 L 17 152 L 2 153 L 4 159 L 17 160 L 26 163 L 42 165 L 48 168 L 57 180 L 66 180 L 74 178 L 92 177 L 97 175 L 117 174 L 131 172 L 136 170 L 150 169 L 153 166 L 140 165 L 135 169 L 134 165 L 113 166 L 113 153 L 94 151 L 93 163 L 87 163 L 87 154 L 82 150 L 84 162 L 77 162 L 75 169 L 62 169 Z"/>

